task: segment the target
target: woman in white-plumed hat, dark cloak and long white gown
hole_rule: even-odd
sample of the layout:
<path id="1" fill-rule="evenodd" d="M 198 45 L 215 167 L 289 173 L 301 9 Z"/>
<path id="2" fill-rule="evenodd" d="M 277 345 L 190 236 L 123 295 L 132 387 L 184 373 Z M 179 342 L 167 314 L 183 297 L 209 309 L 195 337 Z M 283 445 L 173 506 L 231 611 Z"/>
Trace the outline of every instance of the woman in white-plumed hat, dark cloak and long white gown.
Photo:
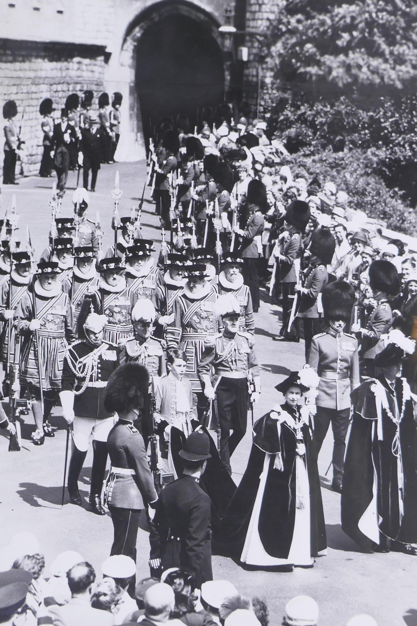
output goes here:
<path id="1" fill-rule="evenodd" d="M 291 372 L 276 386 L 284 404 L 253 426 L 248 466 L 223 519 L 223 540 L 238 544 L 246 565 L 312 567 L 326 553 L 312 424 L 300 406 L 317 384 L 310 367 Z"/>

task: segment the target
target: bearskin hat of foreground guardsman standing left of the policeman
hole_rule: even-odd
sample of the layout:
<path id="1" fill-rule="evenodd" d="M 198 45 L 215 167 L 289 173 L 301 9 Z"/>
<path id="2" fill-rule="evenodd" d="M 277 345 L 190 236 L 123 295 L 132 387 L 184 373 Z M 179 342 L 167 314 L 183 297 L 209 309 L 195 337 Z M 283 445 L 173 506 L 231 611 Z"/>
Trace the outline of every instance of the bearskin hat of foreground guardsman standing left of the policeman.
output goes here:
<path id="1" fill-rule="evenodd" d="M 109 377 L 104 391 L 104 408 L 108 413 L 128 413 L 143 409 L 143 398 L 148 394 L 149 373 L 146 367 L 134 361 L 124 363 Z"/>

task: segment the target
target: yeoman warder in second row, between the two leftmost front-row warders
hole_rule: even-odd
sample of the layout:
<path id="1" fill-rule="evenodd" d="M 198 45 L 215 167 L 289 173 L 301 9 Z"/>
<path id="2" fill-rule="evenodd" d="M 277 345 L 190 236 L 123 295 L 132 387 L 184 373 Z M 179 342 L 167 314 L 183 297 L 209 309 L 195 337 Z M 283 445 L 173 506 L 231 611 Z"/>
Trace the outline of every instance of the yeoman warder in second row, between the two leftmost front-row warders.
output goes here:
<path id="1" fill-rule="evenodd" d="M 99 276 L 92 246 L 76 246 L 74 259 L 73 274 L 69 277 L 68 295 L 73 306 L 74 322 L 77 322 L 84 298 L 96 291 Z"/>

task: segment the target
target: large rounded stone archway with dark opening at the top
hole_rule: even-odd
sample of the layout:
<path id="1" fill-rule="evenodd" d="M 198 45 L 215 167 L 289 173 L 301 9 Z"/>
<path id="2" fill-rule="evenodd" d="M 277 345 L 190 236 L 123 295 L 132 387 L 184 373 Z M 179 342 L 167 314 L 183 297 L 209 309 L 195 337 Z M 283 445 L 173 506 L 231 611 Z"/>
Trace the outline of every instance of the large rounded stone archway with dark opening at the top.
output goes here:
<path id="1" fill-rule="evenodd" d="M 119 57 L 128 115 L 118 160 L 144 158 L 144 138 L 159 116 L 186 113 L 193 125 L 197 106 L 223 101 L 218 26 L 204 9 L 181 0 L 153 4 L 129 25 Z"/>

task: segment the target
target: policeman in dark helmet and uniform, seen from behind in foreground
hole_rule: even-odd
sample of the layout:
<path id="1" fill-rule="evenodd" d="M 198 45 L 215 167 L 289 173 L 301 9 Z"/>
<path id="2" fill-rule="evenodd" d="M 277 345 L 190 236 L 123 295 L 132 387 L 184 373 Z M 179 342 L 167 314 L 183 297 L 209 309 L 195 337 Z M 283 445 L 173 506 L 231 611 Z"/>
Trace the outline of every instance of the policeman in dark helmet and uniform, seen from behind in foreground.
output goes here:
<path id="1" fill-rule="evenodd" d="M 213 580 L 211 571 L 211 501 L 199 485 L 206 469 L 209 436 L 195 431 L 179 452 L 183 476 L 167 485 L 159 494 L 151 525 L 149 543 L 151 576 L 179 567 L 190 572 L 196 588 Z"/>

